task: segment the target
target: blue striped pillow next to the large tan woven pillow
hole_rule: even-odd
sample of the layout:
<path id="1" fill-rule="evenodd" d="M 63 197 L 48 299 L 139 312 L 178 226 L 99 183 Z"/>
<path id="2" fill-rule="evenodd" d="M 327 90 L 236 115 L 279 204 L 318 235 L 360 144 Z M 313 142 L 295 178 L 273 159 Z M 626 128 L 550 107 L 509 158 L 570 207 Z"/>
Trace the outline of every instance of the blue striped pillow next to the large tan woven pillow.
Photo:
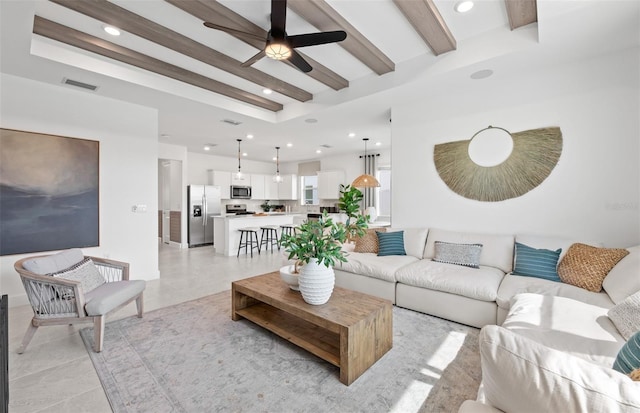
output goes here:
<path id="1" fill-rule="evenodd" d="M 562 248 L 551 251 L 516 242 L 516 265 L 512 274 L 562 282 L 557 271 L 561 252 Z"/>

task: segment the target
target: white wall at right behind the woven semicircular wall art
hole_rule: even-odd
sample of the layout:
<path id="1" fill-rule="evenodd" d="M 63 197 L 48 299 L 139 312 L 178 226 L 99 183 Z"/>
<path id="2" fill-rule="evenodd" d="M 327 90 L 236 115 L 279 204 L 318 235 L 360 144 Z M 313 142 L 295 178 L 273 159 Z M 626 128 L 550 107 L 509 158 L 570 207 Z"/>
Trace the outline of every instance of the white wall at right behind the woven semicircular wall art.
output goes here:
<path id="1" fill-rule="evenodd" d="M 493 77 L 448 98 L 393 108 L 392 224 L 492 233 L 537 233 L 640 244 L 638 49 L 530 73 Z M 435 87 L 435 86 L 434 86 Z M 559 126 L 551 175 L 503 202 L 466 199 L 440 179 L 435 144 L 488 125 L 512 132 Z"/>

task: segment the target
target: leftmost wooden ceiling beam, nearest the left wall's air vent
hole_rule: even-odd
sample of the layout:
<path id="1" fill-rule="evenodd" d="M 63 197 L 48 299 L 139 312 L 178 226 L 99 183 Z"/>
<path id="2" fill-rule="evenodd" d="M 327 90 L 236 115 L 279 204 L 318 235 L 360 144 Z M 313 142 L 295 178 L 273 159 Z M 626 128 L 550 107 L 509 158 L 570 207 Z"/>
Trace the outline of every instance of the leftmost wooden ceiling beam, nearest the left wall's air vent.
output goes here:
<path id="1" fill-rule="evenodd" d="M 209 79 L 198 73 L 190 72 L 40 16 L 35 16 L 34 18 L 33 33 L 273 112 L 283 108 L 282 104 L 278 102 L 265 99 L 262 96 L 254 95 L 217 80 Z"/>

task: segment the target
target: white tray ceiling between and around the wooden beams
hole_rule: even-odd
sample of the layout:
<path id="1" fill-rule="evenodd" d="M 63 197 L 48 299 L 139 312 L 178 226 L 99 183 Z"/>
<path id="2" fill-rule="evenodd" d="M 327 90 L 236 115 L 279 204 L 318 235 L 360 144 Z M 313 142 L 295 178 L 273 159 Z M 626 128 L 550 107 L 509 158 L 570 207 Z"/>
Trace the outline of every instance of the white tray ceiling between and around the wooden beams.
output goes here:
<path id="1" fill-rule="evenodd" d="M 268 0 L 220 0 L 236 13 L 268 30 Z M 281 162 L 333 156 L 363 150 L 379 142 L 391 144 L 390 113 L 395 105 L 420 99 L 438 100 L 438 93 L 460 93 L 478 70 L 491 69 L 493 79 L 515 71 L 575 61 L 640 43 L 640 1 L 538 0 L 538 23 L 511 31 L 503 0 L 476 0 L 466 14 L 453 10 L 455 1 L 434 1 L 451 33 L 457 50 L 434 56 L 408 24 L 392 0 L 327 0 L 338 13 L 374 43 L 394 63 L 395 71 L 378 76 L 338 45 L 304 48 L 306 55 L 339 73 L 350 86 L 334 91 L 281 63 L 262 59 L 254 67 L 314 94 L 301 103 L 274 93 L 269 99 L 284 109 L 274 113 L 234 101 L 195 86 L 146 72 L 34 35 L 38 15 L 125 47 L 141 51 L 193 72 L 262 94 L 262 87 L 147 40 L 123 33 L 117 40 L 102 31 L 99 21 L 48 1 L 0 0 L 1 70 L 3 73 L 63 85 L 63 78 L 98 85 L 93 93 L 157 108 L 159 141 L 187 146 L 190 152 L 237 154 L 237 138 L 243 139 L 248 159 L 270 161 L 275 146 L 282 146 Z M 195 17 L 158 0 L 117 0 L 113 3 L 244 61 L 257 50 L 223 32 L 202 26 Z M 291 10 L 287 32 L 318 31 Z M 437 86 L 437 87 L 435 87 Z M 232 126 L 221 122 L 242 122 Z M 310 119 L 317 122 L 308 123 Z M 349 138 L 349 132 L 356 134 Z M 247 140 L 245 136 L 253 134 Z M 291 148 L 285 148 L 292 143 Z M 323 153 L 316 154 L 320 145 Z"/>

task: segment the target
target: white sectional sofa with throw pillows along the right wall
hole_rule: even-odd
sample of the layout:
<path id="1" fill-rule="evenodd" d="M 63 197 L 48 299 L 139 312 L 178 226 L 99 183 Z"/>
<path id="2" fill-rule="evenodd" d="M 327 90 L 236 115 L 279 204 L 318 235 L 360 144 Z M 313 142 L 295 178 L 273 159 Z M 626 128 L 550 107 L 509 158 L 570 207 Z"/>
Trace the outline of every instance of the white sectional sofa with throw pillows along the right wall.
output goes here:
<path id="1" fill-rule="evenodd" d="M 465 402 L 460 412 L 640 412 L 640 382 L 612 369 L 628 337 L 609 318 L 614 306 L 634 299 L 640 304 L 640 246 L 627 248 L 629 255 L 608 273 L 602 291 L 591 292 L 511 274 L 516 242 L 561 248 L 560 262 L 573 240 L 403 231 L 406 256 L 347 248 L 348 262 L 334 268 L 336 285 L 482 328 L 483 382 L 478 399 Z M 436 241 L 482 244 L 479 268 L 432 261 Z M 637 331 L 640 307 L 632 308 L 638 311 Z"/>

